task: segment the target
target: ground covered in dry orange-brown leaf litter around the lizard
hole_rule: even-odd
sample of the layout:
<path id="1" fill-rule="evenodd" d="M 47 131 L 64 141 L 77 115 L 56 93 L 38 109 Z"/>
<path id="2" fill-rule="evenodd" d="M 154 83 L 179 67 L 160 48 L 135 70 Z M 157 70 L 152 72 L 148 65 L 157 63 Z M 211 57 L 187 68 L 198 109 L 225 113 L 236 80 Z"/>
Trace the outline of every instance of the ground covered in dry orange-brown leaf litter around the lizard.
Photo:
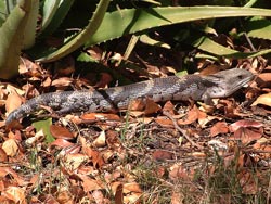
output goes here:
<path id="1" fill-rule="evenodd" d="M 126 71 L 102 72 L 98 81 L 93 80 L 95 72 L 69 77 L 76 66 L 72 56 L 46 69 L 23 59 L 18 86 L 1 85 L 2 113 L 41 92 L 89 85 L 106 88 L 119 73 L 130 81 L 175 73 L 179 61 L 172 55 L 168 65 L 163 54 L 156 61 L 159 65 L 137 58 L 139 62 L 129 61 Z M 198 61 L 198 67 L 205 63 Z M 145 69 L 138 69 L 139 64 Z M 137 66 L 138 75 L 131 65 Z M 50 66 L 54 66 L 54 75 Z M 27 117 L 16 130 L 5 129 L 1 122 L 0 201 L 270 201 L 271 66 L 257 59 L 240 61 L 238 66 L 258 78 L 245 93 L 242 90 L 215 101 L 214 106 L 192 101 L 156 104 L 151 100 L 142 105 L 136 100 L 130 111 L 121 113 L 70 113 L 51 118 L 48 112 L 52 110 L 47 107 L 47 114 L 37 113 L 35 118 L 49 118 L 37 124 Z M 211 64 L 205 72 L 217 68 Z"/>

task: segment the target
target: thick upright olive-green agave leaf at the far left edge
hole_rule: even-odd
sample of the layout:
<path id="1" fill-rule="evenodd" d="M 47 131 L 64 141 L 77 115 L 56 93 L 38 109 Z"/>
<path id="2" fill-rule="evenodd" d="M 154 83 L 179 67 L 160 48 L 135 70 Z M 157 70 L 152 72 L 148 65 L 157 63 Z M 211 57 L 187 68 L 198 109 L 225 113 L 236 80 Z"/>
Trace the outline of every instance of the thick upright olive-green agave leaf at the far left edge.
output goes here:
<path id="1" fill-rule="evenodd" d="M 17 74 L 30 8 L 30 0 L 20 1 L 0 28 L 0 78 L 9 79 Z"/>

